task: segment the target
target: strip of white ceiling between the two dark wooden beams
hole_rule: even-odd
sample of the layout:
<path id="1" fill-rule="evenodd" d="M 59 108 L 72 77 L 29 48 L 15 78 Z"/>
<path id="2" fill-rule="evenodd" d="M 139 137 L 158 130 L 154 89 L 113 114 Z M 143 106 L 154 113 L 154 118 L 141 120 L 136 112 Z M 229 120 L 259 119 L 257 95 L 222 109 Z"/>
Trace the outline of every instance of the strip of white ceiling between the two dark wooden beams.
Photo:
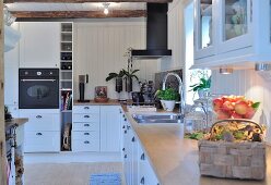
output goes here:
<path id="1" fill-rule="evenodd" d="M 10 3 L 10 11 L 101 11 L 103 3 Z M 144 2 L 110 2 L 109 10 L 145 10 Z"/>

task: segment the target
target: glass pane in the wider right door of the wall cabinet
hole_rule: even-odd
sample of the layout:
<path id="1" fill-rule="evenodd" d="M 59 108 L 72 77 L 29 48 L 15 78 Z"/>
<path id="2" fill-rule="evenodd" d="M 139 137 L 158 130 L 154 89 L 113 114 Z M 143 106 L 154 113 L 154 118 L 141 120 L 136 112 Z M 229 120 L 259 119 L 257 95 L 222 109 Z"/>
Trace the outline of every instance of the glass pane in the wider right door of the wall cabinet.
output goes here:
<path id="1" fill-rule="evenodd" d="M 224 1 L 224 41 L 247 34 L 247 0 Z"/>

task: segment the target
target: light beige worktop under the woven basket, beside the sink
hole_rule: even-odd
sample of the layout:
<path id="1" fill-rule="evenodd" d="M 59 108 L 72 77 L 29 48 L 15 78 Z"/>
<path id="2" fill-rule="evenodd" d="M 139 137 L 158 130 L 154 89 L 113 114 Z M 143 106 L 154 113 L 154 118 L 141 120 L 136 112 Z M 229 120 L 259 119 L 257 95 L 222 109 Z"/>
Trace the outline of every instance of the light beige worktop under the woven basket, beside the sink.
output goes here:
<path id="1" fill-rule="evenodd" d="M 125 107 L 122 107 L 125 108 Z M 140 125 L 126 112 L 162 185 L 271 185 L 271 147 L 267 148 L 266 181 L 201 176 L 198 141 L 182 138 L 180 124 Z"/>

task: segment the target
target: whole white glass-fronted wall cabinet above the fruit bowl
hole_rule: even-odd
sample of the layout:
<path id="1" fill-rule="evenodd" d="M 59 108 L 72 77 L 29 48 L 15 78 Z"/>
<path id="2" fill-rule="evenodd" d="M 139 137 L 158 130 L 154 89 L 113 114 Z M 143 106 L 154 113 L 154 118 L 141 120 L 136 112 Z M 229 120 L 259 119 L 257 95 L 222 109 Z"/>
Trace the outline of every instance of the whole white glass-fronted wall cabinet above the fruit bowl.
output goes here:
<path id="1" fill-rule="evenodd" d="M 195 66 L 271 61 L 271 0 L 195 0 Z"/>

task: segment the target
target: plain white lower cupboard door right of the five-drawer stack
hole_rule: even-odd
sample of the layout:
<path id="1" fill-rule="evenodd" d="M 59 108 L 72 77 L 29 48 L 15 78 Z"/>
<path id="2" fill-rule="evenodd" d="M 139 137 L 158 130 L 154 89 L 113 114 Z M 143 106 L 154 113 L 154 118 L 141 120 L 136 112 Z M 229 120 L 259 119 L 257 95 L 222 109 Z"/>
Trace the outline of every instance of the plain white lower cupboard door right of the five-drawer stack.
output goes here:
<path id="1" fill-rule="evenodd" d="M 119 106 L 101 106 L 101 151 L 120 151 Z"/>

